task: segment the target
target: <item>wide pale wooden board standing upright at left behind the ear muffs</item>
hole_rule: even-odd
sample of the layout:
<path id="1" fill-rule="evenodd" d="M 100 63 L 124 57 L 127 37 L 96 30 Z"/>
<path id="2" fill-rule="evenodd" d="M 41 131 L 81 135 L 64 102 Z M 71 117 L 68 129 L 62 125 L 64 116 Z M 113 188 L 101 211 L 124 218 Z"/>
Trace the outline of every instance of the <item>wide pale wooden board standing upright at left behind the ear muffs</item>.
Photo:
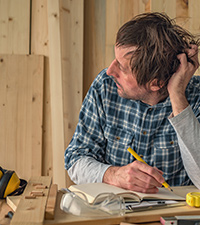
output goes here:
<path id="1" fill-rule="evenodd" d="M 0 165 L 41 175 L 43 56 L 0 55 Z"/>

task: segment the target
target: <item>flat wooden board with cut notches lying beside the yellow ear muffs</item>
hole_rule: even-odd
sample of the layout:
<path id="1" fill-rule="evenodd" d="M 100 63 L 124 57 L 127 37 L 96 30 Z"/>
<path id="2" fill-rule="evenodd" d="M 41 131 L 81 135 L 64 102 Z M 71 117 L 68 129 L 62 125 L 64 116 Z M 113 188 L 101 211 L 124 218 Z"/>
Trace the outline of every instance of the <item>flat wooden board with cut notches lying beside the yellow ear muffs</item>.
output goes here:
<path id="1" fill-rule="evenodd" d="M 44 196 L 36 197 L 35 199 L 26 199 L 30 193 L 35 190 L 34 184 L 41 183 L 47 186 L 42 189 Z M 47 203 L 49 188 L 51 185 L 51 177 L 32 177 L 21 196 L 20 202 L 11 220 L 11 225 L 42 225 L 44 222 L 45 207 Z"/>

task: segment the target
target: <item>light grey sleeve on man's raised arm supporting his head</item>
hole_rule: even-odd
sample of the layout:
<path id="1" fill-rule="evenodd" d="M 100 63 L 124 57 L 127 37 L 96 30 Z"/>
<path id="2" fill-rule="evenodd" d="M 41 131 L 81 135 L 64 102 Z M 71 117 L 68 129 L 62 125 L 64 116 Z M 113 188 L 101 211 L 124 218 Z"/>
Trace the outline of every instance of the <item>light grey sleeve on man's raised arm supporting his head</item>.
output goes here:
<path id="1" fill-rule="evenodd" d="M 194 183 L 200 189 L 200 124 L 191 106 L 175 117 L 169 118 L 174 127 L 181 150 L 184 167 Z"/>

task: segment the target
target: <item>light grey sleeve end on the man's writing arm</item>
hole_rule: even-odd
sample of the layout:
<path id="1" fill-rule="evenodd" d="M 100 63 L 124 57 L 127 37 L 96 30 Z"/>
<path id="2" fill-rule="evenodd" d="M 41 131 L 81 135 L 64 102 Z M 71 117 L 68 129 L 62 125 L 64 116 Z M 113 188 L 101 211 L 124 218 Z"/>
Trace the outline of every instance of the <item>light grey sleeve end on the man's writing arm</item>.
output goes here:
<path id="1" fill-rule="evenodd" d="M 102 182 L 104 173 L 110 166 L 84 156 L 69 168 L 68 174 L 76 184 Z"/>

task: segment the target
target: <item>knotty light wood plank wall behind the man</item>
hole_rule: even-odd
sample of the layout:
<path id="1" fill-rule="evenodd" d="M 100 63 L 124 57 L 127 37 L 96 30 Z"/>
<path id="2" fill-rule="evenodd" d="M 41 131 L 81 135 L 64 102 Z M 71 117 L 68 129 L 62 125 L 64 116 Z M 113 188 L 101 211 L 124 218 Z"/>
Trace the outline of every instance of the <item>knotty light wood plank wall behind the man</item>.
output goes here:
<path id="1" fill-rule="evenodd" d="M 114 59 L 117 30 L 150 11 L 200 33 L 200 0 L 0 0 L 0 54 L 45 57 L 42 175 L 59 187 L 71 183 L 64 151 L 91 82 Z"/>

